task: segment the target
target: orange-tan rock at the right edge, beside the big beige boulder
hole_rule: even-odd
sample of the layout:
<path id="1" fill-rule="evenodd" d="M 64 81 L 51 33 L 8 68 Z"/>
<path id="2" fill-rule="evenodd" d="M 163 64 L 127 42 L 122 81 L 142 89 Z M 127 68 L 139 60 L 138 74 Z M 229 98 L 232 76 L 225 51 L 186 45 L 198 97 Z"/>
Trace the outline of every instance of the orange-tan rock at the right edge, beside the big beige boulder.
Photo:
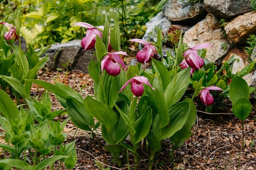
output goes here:
<path id="1" fill-rule="evenodd" d="M 225 31 L 231 42 L 244 44 L 249 35 L 256 32 L 256 11 L 239 15 L 227 22 Z"/>

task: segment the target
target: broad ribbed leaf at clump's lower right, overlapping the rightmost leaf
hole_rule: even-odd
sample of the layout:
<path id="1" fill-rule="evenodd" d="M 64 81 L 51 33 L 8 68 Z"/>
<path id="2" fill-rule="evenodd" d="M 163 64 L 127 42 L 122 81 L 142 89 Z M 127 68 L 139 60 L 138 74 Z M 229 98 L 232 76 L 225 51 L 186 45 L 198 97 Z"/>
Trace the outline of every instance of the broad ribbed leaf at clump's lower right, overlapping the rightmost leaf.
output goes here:
<path id="1" fill-rule="evenodd" d="M 160 128 L 159 125 L 159 115 L 157 115 L 153 121 L 153 133 L 160 141 L 162 139 L 171 137 L 178 130 L 180 130 L 188 116 L 189 116 L 189 103 L 188 102 L 179 102 L 173 104 L 169 108 L 169 119 L 168 125 L 164 128 Z"/>

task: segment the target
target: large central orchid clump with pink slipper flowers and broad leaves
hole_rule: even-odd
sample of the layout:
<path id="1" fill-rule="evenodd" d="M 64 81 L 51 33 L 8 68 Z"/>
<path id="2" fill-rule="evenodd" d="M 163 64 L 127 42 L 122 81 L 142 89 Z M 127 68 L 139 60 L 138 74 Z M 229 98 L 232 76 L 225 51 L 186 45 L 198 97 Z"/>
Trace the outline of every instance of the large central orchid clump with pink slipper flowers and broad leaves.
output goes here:
<path id="1" fill-rule="evenodd" d="M 149 147 L 150 170 L 154 158 L 161 150 L 163 139 L 170 138 L 173 148 L 178 148 L 191 135 L 190 129 L 196 119 L 196 107 L 192 99 L 182 99 L 190 83 L 191 67 L 181 69 L 179 65 L 184 57 L 187 57 L 187 64 L 193 64 L 196 66 L 194 69 L 198 69 L 201 63 L 198 63 L 200 56 L 197 50 L 210 45 L 202 44 L 184 49 L 180 38 L 175 49 L 173 69 L 168 71 L 163 64 L 162 33 L 158 29 L 157 43 L 136 38 L 130 40 L 144 44 L 144 48 L 136 55 L 139 63 L 129 66 L 124 72 L 121 67 L 125 68 L 126 65 L 121 58 L 127 53 L 120 48 L 118 23 L 116 18 L 111 33 L 107 15 L 105 25 L 101 29 L 88 23 L 74 24 L 94 30 L 87 31 L 85 37 L 90 39 L 81 42 L 85 49 L 83 43 L 95 44 L 95 58 L 91 59 L 88 66 L 89 74 L 94 79 L 94 96 L 83 99 L 79 93 L 60 82 L 53 85 L 40 80 L 30 81 L 55 93 L 61 104 L 67 108 L 70 119 L 79 128 L 91 131 L 94 135 L 95 129 L 101 124 L 102 136 L 108 143 L 104 148 L 115 157 L 118 166 L 121 166 L 120 153 L 124 154 L 126 152 L 123 151 L 128 150 L 134 157 L 135 168 L 138 168 L 141 155 L 137 149 L 139 146 L 141 149 Z M 110 46 L 114 50 L 110 50 Z M 183 56 L 184 51 L 186 55 Z M 155 60 L 154 55 L 160 56 L 162 62 Z M 150 61 L 157 68 L 154 74 L 141 68 L 141 64 Z M 201 59 L 199 61 L 201 62 Z M 199 84 L 193 97 L 197 97 L 202 90 L 202 84 Z M 202 92 L 200 95 L 208 102 L 208 93 Z M 94 118 L 98 120 L 97 124 L 94 123 Z M 128 135 L 131 145 L 126 143 Z M 145 140 L 147 142 L 144 143 Z"/>

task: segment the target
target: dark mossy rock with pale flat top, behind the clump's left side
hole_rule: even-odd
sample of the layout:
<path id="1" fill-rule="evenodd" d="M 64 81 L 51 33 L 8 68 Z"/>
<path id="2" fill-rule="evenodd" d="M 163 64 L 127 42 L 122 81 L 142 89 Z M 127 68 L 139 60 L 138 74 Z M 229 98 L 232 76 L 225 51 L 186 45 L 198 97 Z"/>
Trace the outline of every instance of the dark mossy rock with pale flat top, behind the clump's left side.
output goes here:
<path id="1" fill-rule="evenodd" d="M 88 64 L 95 49 L 82 51 L 81 40 L 73 40 L 63 44 L 54 44 L 45 52 L 50 57 L 46 68 L 56 70 L 68 69 L 88 73 Z"/>

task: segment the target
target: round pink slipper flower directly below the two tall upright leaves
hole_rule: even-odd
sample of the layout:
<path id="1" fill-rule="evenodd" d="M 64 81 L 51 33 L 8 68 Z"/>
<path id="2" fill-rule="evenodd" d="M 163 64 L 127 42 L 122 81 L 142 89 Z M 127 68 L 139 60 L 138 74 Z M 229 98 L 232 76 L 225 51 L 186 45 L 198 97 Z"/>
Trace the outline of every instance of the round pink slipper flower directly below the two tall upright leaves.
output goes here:
<path id="1" fill-rule="evenodd" d="M 116 75 L 119 75 L 119 73 L 121 71 L 121 67 L 120 67 L 119 64 L 121 64 L 121 66 L 126 68 L 126 65 L 124 64 L 124 62 L 121 59 L 119 54 L 127 55 L 126 52 L 117 51 L 117 52 L 114 52 L 114 53 L 109 53 L 108 55 L 106 55 L 103 58 L 103 60 L 101 61 L 101 71 L 102 71 L 102 73 L 103 73 L 103 69 L 105 69 L 106 72 L 109 75 L 116 76 Z"/>

